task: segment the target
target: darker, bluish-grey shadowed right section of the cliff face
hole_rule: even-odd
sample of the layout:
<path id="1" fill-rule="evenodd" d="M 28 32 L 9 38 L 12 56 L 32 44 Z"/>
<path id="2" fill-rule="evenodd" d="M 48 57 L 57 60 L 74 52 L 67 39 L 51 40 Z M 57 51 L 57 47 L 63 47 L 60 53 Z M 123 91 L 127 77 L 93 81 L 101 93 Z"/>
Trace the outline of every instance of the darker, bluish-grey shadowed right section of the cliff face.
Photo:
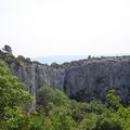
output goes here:
<path id="1" fill-rule="evenodd" d="M 115 88 L 123 102 L 130 99 L 130 62 L 99 61 L 67 69 L 65 92 L 78 101 L 105 100 Z"/>

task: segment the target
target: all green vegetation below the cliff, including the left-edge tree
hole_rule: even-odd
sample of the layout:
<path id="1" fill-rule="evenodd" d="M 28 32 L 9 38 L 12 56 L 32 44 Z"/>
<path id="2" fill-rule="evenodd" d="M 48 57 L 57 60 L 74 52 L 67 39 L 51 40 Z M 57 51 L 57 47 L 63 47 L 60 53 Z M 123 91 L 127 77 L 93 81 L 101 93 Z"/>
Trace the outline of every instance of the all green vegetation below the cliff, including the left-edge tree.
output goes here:
<path id="1" fill-rule="evenodd" d="M 130 130 L 130 106 L 120 104 L 115 90 L 104 104 L 76 102 L 50 87 L 40 88 L 36 100 L 36 110 L 27 112 L 31 95 L 0 63 L 0 130 Z"/>

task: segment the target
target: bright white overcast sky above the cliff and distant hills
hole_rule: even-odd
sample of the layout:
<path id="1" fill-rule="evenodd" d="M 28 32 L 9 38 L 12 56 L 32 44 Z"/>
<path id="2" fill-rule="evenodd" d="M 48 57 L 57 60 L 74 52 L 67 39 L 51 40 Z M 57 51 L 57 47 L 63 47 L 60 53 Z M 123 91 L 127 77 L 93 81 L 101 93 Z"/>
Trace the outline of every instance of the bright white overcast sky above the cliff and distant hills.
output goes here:
<path id="1" fill-rule="evenodd" d="M 0 0 L 14 55 L 130 54 L 130 0 Z"/>

